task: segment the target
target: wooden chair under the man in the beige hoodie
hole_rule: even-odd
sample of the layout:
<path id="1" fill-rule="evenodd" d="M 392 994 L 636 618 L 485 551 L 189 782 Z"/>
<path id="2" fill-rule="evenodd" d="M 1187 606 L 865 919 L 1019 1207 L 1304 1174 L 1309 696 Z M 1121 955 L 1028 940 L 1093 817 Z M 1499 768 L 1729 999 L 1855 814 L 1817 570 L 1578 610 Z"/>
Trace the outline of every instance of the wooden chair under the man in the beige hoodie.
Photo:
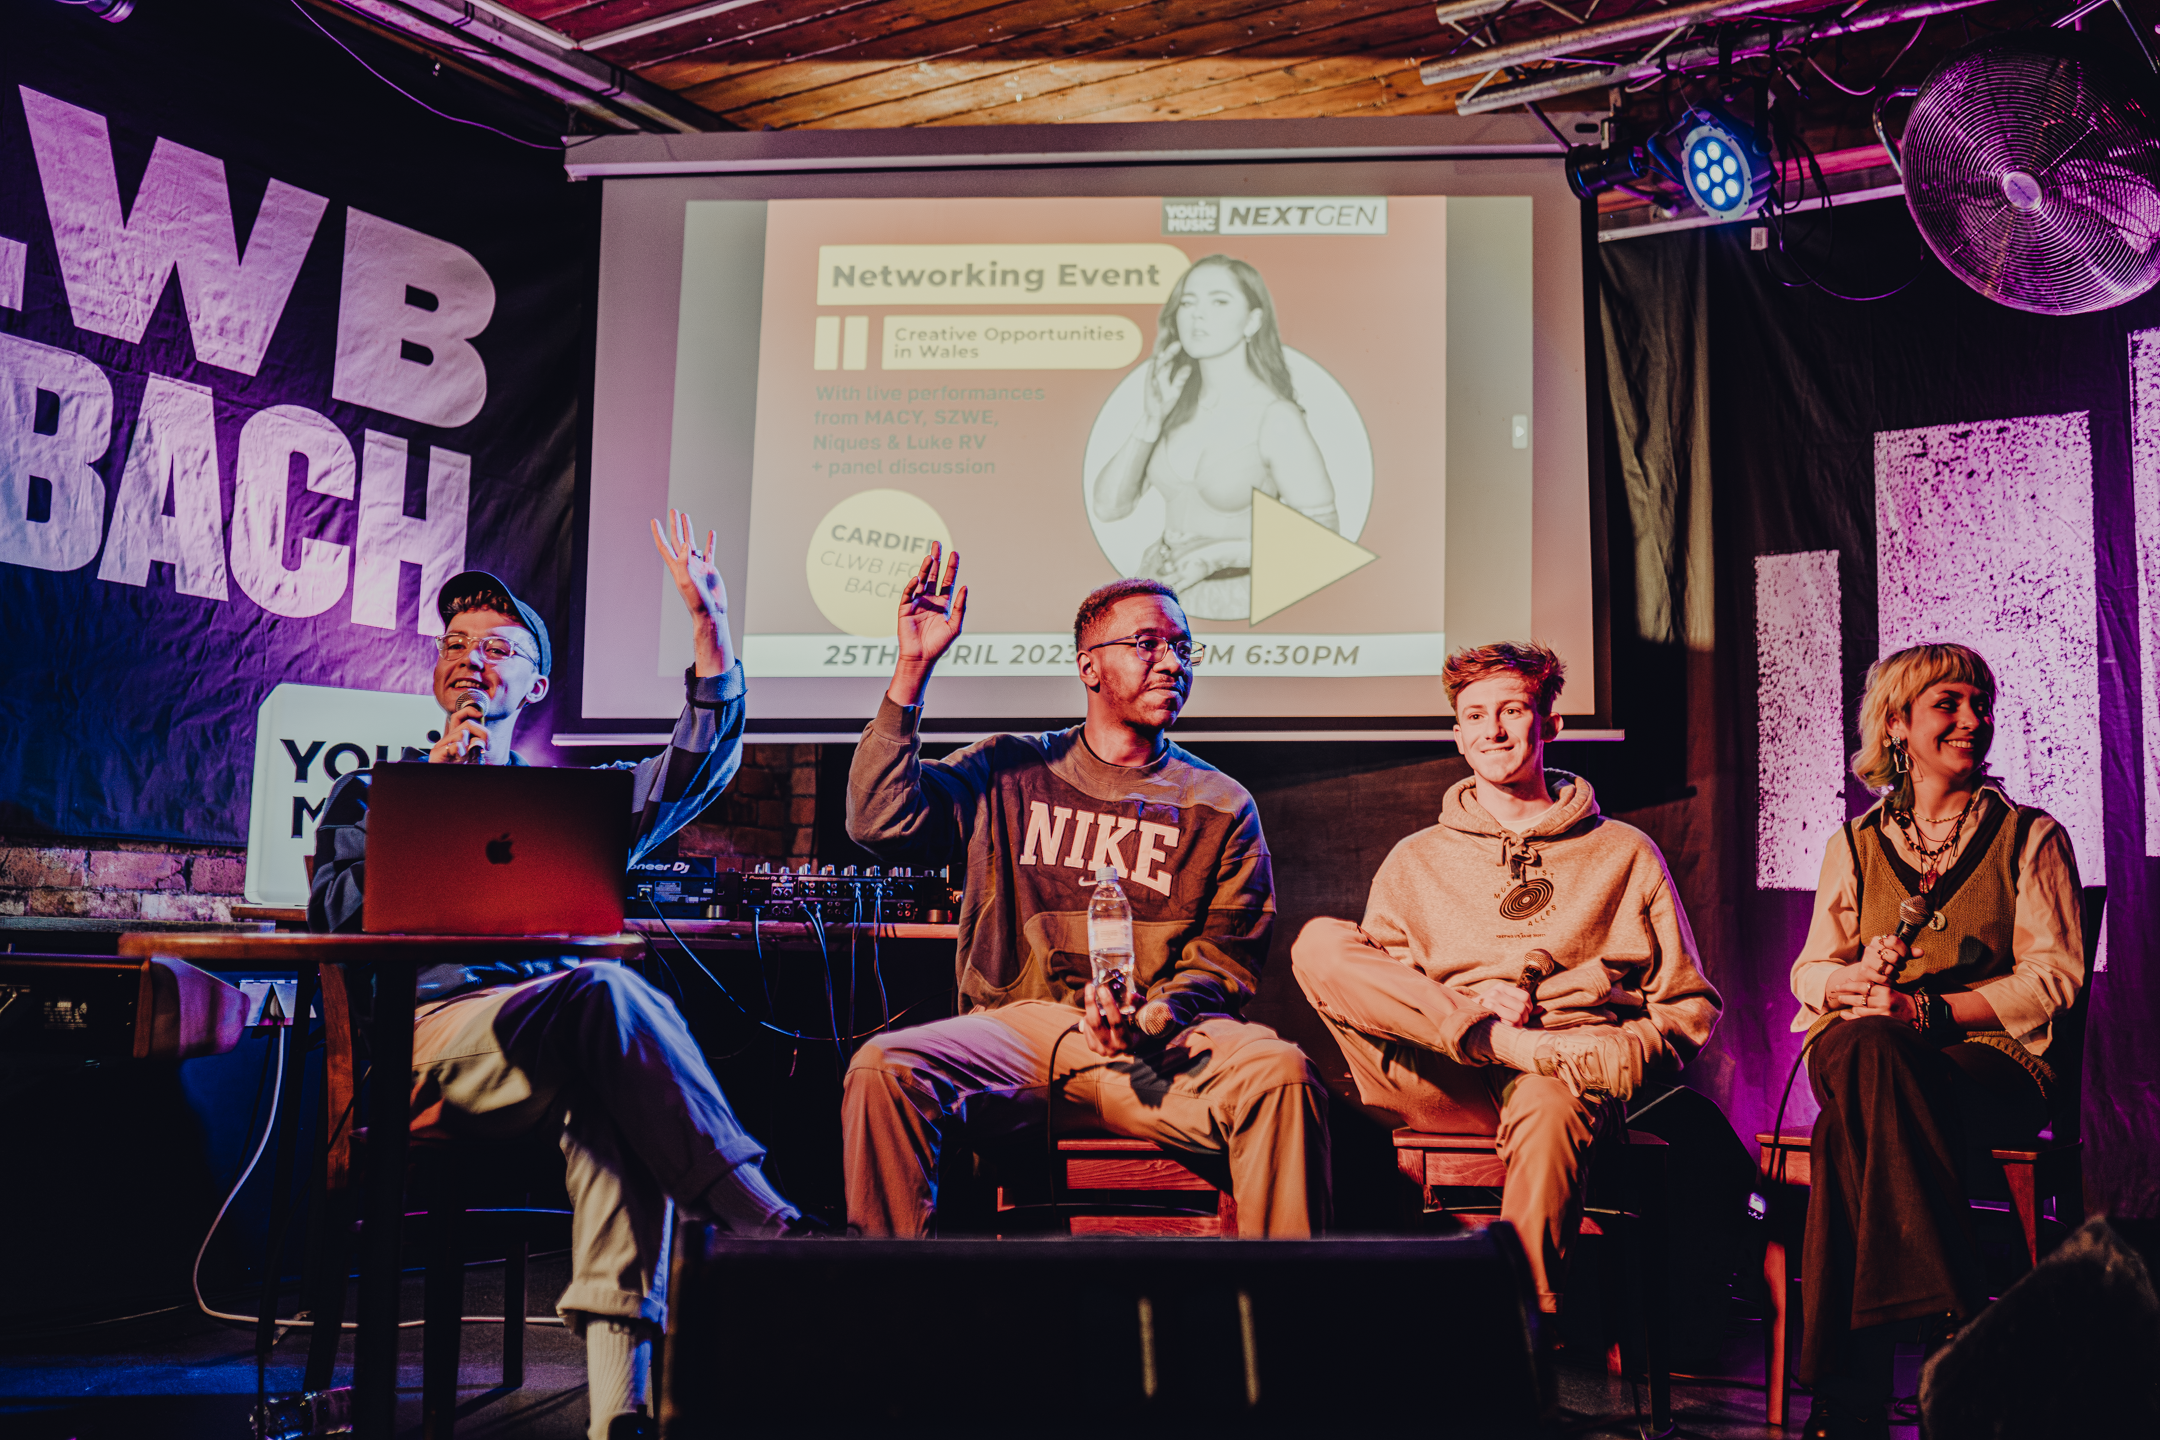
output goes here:
<path id="1" fill-rule="evenodd" d="M 1609 1235 L 1622 1244 L 1626 1291 L 1635 1302 L 1642 1330 L 1642 1364 L 1650 1375 L 1650 1429 L 1672 1429 L 1672 1367 L 1665 1360 L 1665 1142 L 1646 1131 L 1607 1131 L 1601 1138 L 1596 1168 L 1620 1168 L 1622 1207 L 1583 1207 L 1583 1235 Z M 1449 1136 L 1402 1127 L 1395 1131 L 1395 1168 L 1426 1198 L 1426 1211 L 1454 1215 L 1497 1215 L 1497 1205 L 1443 1205 L 1439 1190 L 1499 1190 L 1508 1183 L 1508 1164 L 1499 1157 L 1495 1136 Z M 1622 1371 L 1620 1347 L 1607 1356 L 1607 1369 Z"/>

